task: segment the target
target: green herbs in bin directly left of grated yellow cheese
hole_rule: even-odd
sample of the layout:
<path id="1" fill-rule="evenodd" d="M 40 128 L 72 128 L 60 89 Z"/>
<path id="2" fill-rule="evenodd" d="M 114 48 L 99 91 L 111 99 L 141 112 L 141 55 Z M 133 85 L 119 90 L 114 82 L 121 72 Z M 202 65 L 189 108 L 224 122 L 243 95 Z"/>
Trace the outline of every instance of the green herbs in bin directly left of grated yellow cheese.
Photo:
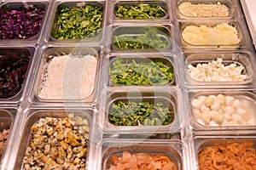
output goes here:
<path id="1" fill-rule="evenodd" d="M 168 41 L 155 28 L 149 28 L 137 36 L 114 36 L 113 46 L 119 49 L 130 48 L 166 48 Z"/>

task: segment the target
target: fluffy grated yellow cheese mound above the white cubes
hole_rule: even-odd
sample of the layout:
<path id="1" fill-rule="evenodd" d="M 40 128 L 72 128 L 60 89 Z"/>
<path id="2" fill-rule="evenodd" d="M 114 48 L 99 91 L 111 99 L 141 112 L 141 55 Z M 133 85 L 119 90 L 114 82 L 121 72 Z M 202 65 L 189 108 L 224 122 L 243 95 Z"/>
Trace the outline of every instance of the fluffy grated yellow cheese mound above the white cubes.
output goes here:
<path id="1" fill-rule="evenodd" d="M 228 23 L 214 27 L 186 26 L 182 31 L 182 37 L 190 45 L 236 45 L 241 41 L 236 27 Z"/>

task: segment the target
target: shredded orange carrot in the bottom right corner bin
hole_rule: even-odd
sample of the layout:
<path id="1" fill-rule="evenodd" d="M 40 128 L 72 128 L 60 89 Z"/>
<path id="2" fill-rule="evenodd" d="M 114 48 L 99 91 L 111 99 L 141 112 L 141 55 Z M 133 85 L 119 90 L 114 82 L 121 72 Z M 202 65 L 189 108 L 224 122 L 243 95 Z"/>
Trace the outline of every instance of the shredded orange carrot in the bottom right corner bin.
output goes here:
<path id="1" fill-rule="evenodd" d="M 253 143 L 213 145 L 198 155 L 200 170 L 256 170 Z"/>

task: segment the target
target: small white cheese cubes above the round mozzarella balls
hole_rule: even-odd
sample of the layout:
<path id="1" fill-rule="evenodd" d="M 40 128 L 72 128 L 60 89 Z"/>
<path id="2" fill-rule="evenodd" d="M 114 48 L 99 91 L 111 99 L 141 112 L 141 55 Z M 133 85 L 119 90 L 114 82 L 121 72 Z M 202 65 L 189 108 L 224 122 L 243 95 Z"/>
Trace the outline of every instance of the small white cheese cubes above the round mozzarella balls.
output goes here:
<path id="1" fill-rule="evenodd" d="M 223 59 L 218 58 L 208 64 L 188 65 L 189 76 L 200 82 L 241 82 L 247 79 L 247 75 L 242 74 L 245 69 L 242 65 L 224 65 L 222 62 Z"/>

